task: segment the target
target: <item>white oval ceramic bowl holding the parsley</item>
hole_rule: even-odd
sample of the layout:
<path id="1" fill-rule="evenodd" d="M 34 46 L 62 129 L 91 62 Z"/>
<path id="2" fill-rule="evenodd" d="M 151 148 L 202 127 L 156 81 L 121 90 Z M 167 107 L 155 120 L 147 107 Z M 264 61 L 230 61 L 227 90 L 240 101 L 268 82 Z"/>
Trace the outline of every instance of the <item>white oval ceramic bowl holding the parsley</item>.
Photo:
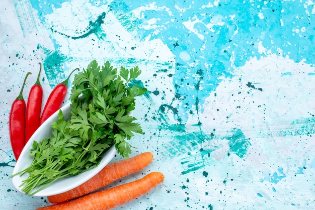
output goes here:
<path id="1" fill-rule="evenodd" d="M 70 103 L 67 103 L 65 106 L 63 106 L 61 108 L 61 111 L 63 112 L 64 119 L 65 120 L 69 119 L 71 116 Z M 51 136 L 51 132 L 52 132 L 51 124 L 52 122 L 57 121 L 58 113 L 59 113 L 59 110 L 56 113 L 54 113 L 51 117 L 49 117 L 35 131 L 33 136 L 30 138 L 30 140 L 27 142 L 24 149 L 22 150 L 21 155 L 13 169 L 13 174 L 18 173 L 31 165 L 31 163 L 33 162 L 33 157 L 30 157 L 29 154 L 30 154 L 30 149 L 33 146 L 34 140 L 40 141 L 45 138 L 49 138 Z M 96 175 L 99 171 L 101 171 L 113 159 L 113 157 L 116 154 L 117 154 L 116 148 L 115 146 L 113 146 L 110 148 L 109 151 L 107 151 L 103 155 L 102 161 L 97 167 L 90 169 L 89 171 L 86 171 L 84 173 L 75 175 L 75 176 L 59 179 L 53 182 L 52 184 L 50 184 L 48 187 L 44 188 L 43 190 L 37 192 L 33 196 L 42 197 L 42 196 L 55 195 L 55 194 L 73 189 L 78 185 L 81 185 L 82 183 L 86 182 L 87 180 L 92 178 L 94 175 Z M 25 180 L 28 176 L 29 174 L 25 173 L 22 176 L 16 175 L 12 177 L 13 185 L 18 191 L 24 193 L 22 191 L 23 186 L 20 187 L 20 185 L 22 184 L 22 181 Z M 39 187 L 35 188 L 34 190 L 37 190 L 37 189 L 39 189 Z"/>

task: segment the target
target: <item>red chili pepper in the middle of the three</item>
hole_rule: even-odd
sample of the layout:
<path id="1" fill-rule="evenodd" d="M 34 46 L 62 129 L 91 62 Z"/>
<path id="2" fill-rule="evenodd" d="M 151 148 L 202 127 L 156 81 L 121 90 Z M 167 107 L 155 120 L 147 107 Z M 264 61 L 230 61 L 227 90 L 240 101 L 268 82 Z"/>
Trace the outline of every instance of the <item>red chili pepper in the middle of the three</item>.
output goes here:
<path id="1" fill-rule="evenodd" d="M 35 84 L 31 87 L 26 106 L 25 144 L 39 127 L 40 113 L 42 109 L 43 88 L 39 81 L 42 64 Z"/>

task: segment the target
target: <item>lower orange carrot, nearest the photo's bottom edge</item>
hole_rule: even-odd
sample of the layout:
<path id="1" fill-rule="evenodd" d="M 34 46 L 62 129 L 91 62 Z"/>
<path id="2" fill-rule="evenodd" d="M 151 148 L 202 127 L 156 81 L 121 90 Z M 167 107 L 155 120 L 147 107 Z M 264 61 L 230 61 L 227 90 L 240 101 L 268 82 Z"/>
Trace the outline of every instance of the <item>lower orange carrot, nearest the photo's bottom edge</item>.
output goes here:
<path id="1" fill-rule="evenodd" d="M 63 209 L 112 209 L 125 204 L 162 183 L 164 175 L 161 172 L 151 172 L 141 179 L 122 184 L 103 191 L 94 192 L 74 200 L 37 208 L 37 210 Z"/>

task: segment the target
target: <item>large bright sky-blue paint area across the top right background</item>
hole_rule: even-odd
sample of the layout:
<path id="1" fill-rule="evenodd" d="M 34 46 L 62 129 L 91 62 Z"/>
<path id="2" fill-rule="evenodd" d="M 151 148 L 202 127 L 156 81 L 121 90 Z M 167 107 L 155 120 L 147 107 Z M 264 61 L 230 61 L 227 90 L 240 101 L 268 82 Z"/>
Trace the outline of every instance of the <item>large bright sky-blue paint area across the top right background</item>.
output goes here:
<path id="1" fill-rule="evenodd" d="M 150 4 L 164 9 L 141 11 L 141 18 L 134 18 L 132 13 L 134 9 Z M 315 21 L 315 16 L 307 16 L 303 4 L 296 4 L 294 1 L 252 1 L 251 3 L 246 1 L 245 3 L 239 0 L 220 1 L 219 4 L 210 8 L 204 7 L 204 1 L 194 2 L 194 4 L 182 1 L 177 2 L 176 5 L 179 8 L 185 8 L 185 12 L 177 10 L 171 1 L 144 0 L 128 6 L 124 1 L 115 1 L 110 4 L 110 7 L 127 30 L 132 33 L 136 31 L 136 35 L 133 35 L 139 41 L 147 37 L 160 39 L 169 47 L 177 63 L 176 72 L 173 75 L 173 84 L 179 87 L 176 93 L 183 96 L 198 94 L 199 104 L 203 104 L 209 92 L 216 89 L 221 82 L 219 79 L 221 76 L 231 77 L 233 65 L 240 67 L 252 57 L 260 59 L 267 55 L 260 52 L 259 43 L 266 48 L 266 52 L 279 54 L 278 49 L 281 49 L 280 56 L 288 56 L 296 62 L 305 59 L 306 63 L 313 65 L 312 54 L 303 52 L 310 52 L 311 46 L 315 45 L 313 36 L 315 28 L 309 24 Z M 263 14 L 263 19 L 259 17 L 259 13 Z M 192 17 L 191 14 L 194 16 Z M 299 16 L 292 16 L 292 14 L 299 14 Z M 158 27 L 158 32 L 154 27 L 138 30 L 147 25 L 147 20 L 156 17 L 159 17 L 156 19 L 156 26 L 161 26 Z M 174 21 L 174 17 L 181 17 L 181 21 Z M 283 23 L 280 22 L 281 19 Z M 194 20 L 199 20 L 193 25 L 193 30 L 199 36 L 183 25 L 183 21 Z M 208 25 L 212 27 L 209 28 Z M 305 30 L 301 36 L 295 32 L 292 33 L 291 30 L 284 30 L 302 27 Z M 183 52 L 186 52 L 189 57 L 186 56 L 183 59 L 181 57 Z M 301 53 L 303 56 L 300 56 Z M 237 59 L 232 59 L 233 56 Z M 189 65 L 192 61 L 194 61 L 194 67 Z M 200 83 L 202 91 L 197 93 L 196 89 L 183 84 L 197 83 L 194 75 L 200 69 L 204 72 L 203 83 Z M 181 118 L 184 124 L 188 119 L 185 114 L 189 113 L 196 101 L 193 97 L 178 100 L 181 100 L 182 106 L 177 110 L 180 114 L 184 114 Z"/>

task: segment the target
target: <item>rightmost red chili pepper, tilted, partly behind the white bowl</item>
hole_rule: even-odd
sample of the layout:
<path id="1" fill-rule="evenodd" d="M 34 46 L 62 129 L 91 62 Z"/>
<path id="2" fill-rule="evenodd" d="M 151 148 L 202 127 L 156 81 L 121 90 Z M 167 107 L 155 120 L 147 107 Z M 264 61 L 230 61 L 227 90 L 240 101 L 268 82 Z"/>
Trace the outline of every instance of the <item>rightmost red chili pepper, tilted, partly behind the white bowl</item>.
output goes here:
<path id="1" fill-rule="evenodd" d="M 73 71 L 75 70 L 78 70 L 78 68 L 74 69 Z M 70 73 L 70 75 L 73 73 L 73 71 Z M 66 78 L 66 80 L 64 80 L 60 84 L 57 84 L 55 88 L 51 91 L 46 101 L 42 116 L 40 118 L 40 125 L 61 108 L 62 102 L 67 94 L 67 85 L 70 75 L 68 76 L 68 78 Z"/>

